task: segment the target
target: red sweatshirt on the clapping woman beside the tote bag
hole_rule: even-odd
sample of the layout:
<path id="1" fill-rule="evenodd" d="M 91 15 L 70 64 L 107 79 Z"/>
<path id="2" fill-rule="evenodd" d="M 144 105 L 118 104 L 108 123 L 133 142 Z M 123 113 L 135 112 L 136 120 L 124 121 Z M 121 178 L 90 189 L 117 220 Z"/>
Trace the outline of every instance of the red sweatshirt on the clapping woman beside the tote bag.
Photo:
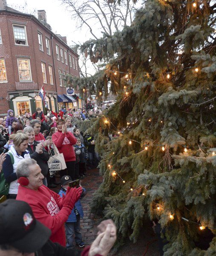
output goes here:
<path id="1" fill-rule="evenodd" d="M 63 153 L 65 162 L 76 160 L 73 145 L 76 144 L 77 139 L 70 131 L 64 134 L 61 131 L 55 132 L 55 134 L 52 134 L 52 141 L 59 152 Z"/>

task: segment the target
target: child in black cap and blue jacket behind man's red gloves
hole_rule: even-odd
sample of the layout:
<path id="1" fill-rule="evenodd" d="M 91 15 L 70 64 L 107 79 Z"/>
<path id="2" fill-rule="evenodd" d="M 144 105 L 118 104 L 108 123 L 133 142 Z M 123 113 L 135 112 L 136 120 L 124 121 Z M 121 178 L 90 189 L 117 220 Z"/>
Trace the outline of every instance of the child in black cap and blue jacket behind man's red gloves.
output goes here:
<path id="1" fill-rule="evenodd" d="M 61 197 L 63 197 L 63 195 L 66 195 L 66 191 L 69 188 L 70 181 L 72 181 L 72 179 L 68 175 L 61 177 L 61 190 L 59 191 L 59 195 Z M 86 195 L 86 190 L 83 188 L 80 199 L 84 198 L 85 195 Z M 81 205 L 80 199 L 75 203 L 75 207 L 72 209 L 72 212 L 65 223 L 67 248 L 74 247 L 74 240 L 79 247 L 82 248 L 85 246 L 83 242 L 82 234 L 80 232 L 80 218 L 83 218 L 84 216 L 83 207 Z M 75 235 L 75 239 L 73 238 L 73 235 Z"/>

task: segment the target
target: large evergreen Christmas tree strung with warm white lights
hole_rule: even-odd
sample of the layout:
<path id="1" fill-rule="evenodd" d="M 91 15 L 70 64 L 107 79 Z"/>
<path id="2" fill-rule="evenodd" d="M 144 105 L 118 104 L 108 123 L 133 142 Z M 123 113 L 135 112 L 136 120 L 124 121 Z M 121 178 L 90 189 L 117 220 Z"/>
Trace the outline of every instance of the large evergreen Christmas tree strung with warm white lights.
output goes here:
<path id="1" fill-rule="evenodd" d="M 87 132 L 104 176 L 92 211 L 115 221 L 118 244 L 148 217 L 165 230 L 165 256 L 216 255 L 216 238 L 196 247 L 202 230 L 216 233 L 215 12 L 211 0 L 146 0 L 131 26 L 82 46 L 107 65 L 72 80 L 98 100 L 117 95 Z"/>

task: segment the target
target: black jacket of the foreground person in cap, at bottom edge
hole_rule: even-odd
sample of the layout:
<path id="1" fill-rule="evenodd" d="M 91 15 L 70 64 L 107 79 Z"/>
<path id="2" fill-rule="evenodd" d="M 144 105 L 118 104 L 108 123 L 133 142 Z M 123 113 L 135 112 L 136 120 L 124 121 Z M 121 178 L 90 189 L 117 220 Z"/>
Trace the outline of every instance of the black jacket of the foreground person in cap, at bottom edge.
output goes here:
<path id="1" fill-rule="evenodd" d="M 35 256 L 80 256 L 81 251 L 77 249 L 67 249 L 58 243 L 48 241 L 35 253 Z"/>

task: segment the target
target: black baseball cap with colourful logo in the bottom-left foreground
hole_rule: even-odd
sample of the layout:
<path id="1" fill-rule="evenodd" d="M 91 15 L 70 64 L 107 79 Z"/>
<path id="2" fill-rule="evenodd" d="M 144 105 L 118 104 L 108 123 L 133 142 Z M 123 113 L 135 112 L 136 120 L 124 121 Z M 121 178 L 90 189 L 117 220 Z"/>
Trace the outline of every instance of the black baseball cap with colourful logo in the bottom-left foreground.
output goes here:
<path id="1" fill-rule="evenodd" d="M 9 199 L 0 204 L 0 244 L 34 253 L 49 240 L 51 230 L 35 219 L 26 202 Z"/>

